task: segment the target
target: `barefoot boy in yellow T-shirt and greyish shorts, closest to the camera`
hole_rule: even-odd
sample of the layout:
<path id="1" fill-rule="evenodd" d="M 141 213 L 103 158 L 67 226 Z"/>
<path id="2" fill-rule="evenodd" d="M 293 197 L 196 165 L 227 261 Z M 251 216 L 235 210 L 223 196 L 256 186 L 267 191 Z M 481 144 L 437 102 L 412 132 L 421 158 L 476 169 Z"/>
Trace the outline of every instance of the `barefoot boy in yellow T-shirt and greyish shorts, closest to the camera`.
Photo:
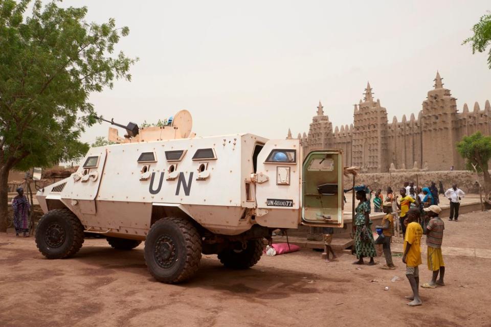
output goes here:
<path id="1" fill-rule="evenodd" d="M 421 264 L 421 236 L 423 234 L 423 229 L 418 223 L 419 216 L 418 208 L 409 209 L 407 214 L 408 226 L 406 227 L 406 236 L 404 238 L 403 263 L 406 264 L 406 277 L 408 277 L 409 284 L 413 290 L 412 296 L 406 296 L 407 299 L 412 300 L 407 303 L 410 307 L 416 307 L 422 304 L 418 290 L 418 266 Z"/>

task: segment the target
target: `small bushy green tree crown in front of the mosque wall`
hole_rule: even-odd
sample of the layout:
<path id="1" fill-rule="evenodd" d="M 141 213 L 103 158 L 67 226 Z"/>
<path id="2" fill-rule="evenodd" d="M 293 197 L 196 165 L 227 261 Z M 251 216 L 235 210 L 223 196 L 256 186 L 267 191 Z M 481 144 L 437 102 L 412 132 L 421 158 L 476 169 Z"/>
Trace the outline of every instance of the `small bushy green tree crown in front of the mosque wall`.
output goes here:
<path id="1" fill-rule="evenodd" d="M 473 165 L 479 173 L 488 170 L 488 161 L 491 159 L 491 136 L 484 136 L 476 132 L 470 136 L 464 136 L 457 143 L 457 151 L 465 158 L 467 169 L 474 171 Z"/>

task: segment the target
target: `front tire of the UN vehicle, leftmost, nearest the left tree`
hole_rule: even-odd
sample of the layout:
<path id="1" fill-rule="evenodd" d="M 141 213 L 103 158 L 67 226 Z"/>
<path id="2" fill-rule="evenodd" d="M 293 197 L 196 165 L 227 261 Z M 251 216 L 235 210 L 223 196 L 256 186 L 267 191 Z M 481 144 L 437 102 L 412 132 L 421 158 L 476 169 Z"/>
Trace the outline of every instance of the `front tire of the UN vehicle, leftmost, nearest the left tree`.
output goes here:
<path id="1" fill-rule="evenodd" d="M 83 225 L 69 209 L 44 214 L 36 228 L 36 246 L 48 259 L 69 258 L 83 243 Z"/>

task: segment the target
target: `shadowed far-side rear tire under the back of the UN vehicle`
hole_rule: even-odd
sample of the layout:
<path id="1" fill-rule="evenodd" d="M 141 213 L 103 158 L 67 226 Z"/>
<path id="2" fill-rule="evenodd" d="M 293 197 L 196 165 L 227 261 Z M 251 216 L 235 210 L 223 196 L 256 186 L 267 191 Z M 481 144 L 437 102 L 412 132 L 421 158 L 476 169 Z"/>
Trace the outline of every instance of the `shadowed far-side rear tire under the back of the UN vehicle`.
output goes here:
<path id="1" fill-rule="evenodd" d="M 245 249 L 226 249 L 218 253 L 218 259 L 227 268 L 248 269 L 261 259 L 263 247 L 262 239 L 249 240 Z"/>

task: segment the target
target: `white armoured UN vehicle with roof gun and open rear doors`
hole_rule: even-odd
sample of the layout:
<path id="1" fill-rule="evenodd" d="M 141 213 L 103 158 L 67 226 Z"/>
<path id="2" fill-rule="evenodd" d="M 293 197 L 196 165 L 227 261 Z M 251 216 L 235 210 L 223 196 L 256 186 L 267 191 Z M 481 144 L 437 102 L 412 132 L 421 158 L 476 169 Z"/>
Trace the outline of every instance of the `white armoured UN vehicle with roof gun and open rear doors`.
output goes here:
<path id="1" fill-rule="evenodd" d="M 91 148 L 76 173 L 37 193 L 39 251 L 68 258 L 87 232 L 121 250 L 145 241 L 150 273 L 178 283 L 202 253 L 249 268 L 274 229 L 343 226 L 340 151 L 304 156 L 299 139 L 196 137 L 191 125 L 182 110 L 163 127 L 118 125 L 125 137 L 110 128 L 118 144 Z"/>

